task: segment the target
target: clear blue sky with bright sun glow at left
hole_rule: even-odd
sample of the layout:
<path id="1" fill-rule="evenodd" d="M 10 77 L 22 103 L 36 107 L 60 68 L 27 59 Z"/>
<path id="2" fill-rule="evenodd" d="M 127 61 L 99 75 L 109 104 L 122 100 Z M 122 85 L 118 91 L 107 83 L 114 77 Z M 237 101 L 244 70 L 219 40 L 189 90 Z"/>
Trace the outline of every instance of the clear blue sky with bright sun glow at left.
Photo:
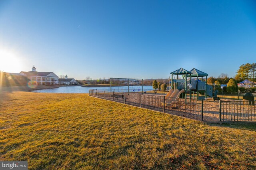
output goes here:
<path id="1" fill-rule="evenodd" d="M 253 0 L 1 0 L 0 70 L 76 79 L 233 77 L 256 62 Z"/>

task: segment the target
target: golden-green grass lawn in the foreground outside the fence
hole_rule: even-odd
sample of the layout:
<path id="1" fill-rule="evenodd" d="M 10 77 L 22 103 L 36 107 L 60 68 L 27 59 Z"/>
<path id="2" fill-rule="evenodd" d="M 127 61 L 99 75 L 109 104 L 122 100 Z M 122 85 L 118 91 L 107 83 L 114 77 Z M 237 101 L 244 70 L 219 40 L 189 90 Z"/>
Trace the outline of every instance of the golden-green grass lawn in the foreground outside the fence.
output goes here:
<path id="1" fill-rule="evenodd" d="M 29 169 L 256 169 L 256 126 L 89 97 L 0 93 L 0 160 Z"/>

